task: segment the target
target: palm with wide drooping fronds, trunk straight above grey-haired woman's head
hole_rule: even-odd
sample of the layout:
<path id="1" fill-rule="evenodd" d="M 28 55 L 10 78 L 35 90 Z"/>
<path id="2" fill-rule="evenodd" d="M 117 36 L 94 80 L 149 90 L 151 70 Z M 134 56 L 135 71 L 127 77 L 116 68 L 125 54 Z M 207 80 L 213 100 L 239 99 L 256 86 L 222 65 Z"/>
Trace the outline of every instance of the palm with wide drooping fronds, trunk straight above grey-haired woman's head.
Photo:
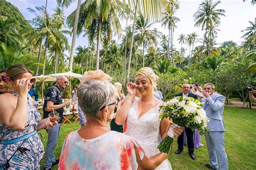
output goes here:
<path id="1" fill-rule="evenodd" d="M 85 28 L 97 34 L 96 69 L 99 69 L 100 39 L 102 34 L 109 39 L 113 33 L 120 36 L 121 25 L 118 18 L 118 10 L 122 9 L 121 6 L 121 3 L 116 0 L 111 0 L 109 3 L 104 0 L 93 0 L 81 4 L 78 30 Z M 73 25 L 74 15 L 75 11 L 68 17 L 69 26 Z"/>

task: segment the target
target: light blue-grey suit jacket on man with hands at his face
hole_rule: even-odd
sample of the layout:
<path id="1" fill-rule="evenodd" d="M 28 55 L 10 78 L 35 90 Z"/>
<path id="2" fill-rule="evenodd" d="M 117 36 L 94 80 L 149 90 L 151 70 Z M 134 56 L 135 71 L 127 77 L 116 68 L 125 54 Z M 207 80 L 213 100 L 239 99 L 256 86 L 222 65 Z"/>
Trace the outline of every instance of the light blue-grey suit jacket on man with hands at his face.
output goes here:
<path id="1" fill-rule="evenodd" d="M 205 102 L 203 108 L 206 112 L 206 116 L 210 119 L 210 121 L 207 123 L 210 131 L 226 131 L 223 121 L 225 97 L 223 95 L 214 93 L 210 97 L 204 97 L 201 102 Z"/>

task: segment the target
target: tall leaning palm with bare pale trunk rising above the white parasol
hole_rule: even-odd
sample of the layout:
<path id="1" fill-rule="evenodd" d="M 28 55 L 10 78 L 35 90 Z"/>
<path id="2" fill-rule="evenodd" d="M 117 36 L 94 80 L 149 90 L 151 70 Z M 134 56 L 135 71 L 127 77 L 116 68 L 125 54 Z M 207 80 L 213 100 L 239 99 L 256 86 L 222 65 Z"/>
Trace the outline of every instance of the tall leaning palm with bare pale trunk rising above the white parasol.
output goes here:
<path id="1" fill-rule="evenodd" d="M 75 1 L 75 0 L 57 0 L 57 3 L 61 4 L 62 6 L 68 7 L 73 1 Z M 76 17 L 75 17 L 75 22 L 74 22 L 74 26 L 73 26 L 73 36 L 72 36 L 72 44 L 71 44 L 71 49 L 70 49 L 70 57 L 69 57 L 69 70 L 71 72 L 72 72 L 73 57 L 74 57 L 74 52 L 75 52 L 80 6 L 81 6 L 81 0 L 78 0 L 77 1 Z"/>

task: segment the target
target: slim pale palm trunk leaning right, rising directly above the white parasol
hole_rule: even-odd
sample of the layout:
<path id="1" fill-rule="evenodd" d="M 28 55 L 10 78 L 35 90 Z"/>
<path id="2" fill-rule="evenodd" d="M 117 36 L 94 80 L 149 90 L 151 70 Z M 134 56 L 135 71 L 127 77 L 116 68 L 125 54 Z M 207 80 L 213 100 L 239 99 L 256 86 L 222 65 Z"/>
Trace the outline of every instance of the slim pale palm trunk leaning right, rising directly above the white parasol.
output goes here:
<path id="1" fill-rule="evenodd" d="M 71 49 L 70 49 L 70 58 L 69 58 L 69 70 L 71 72 L 72 72 L 73 60 L 74 60 L 74 52 L 75 52 L 75 44 L 76 44 L 76 37 L 77 37 L 77 25 L 78 25 L 78 19 L 79 19 L 80 6 L 81 6 L 81 0 L 78 0 L 75 24 L 74 24 L 74 27 L 73 27 L 73 36 L 72 36 L 72 44 L 71 44 Z"/>

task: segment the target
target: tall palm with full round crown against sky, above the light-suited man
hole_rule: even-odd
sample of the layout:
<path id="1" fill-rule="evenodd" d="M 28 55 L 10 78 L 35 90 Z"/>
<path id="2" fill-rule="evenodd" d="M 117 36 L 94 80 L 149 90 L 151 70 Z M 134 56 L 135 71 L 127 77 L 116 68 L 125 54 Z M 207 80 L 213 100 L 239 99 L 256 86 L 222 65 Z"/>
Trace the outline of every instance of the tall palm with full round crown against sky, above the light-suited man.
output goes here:
<path id="1" fill-rule="evenodd" d="M 213 3 L 213 0 L 205 0 L 204 2 L 200 3 L 198 11 L 194 13 L 194 19 L 196 21 L 194 26 L 201 26 L 201 30 L 205 29 L 203 48 L 206 40 L 206 32 L 209 29 L 212 29 L 213 26 L 218 26 L 220 24 L 220 16 L 225 16 L 225 10 L 216 9 L 219 3 L 220 1 Z"/>

